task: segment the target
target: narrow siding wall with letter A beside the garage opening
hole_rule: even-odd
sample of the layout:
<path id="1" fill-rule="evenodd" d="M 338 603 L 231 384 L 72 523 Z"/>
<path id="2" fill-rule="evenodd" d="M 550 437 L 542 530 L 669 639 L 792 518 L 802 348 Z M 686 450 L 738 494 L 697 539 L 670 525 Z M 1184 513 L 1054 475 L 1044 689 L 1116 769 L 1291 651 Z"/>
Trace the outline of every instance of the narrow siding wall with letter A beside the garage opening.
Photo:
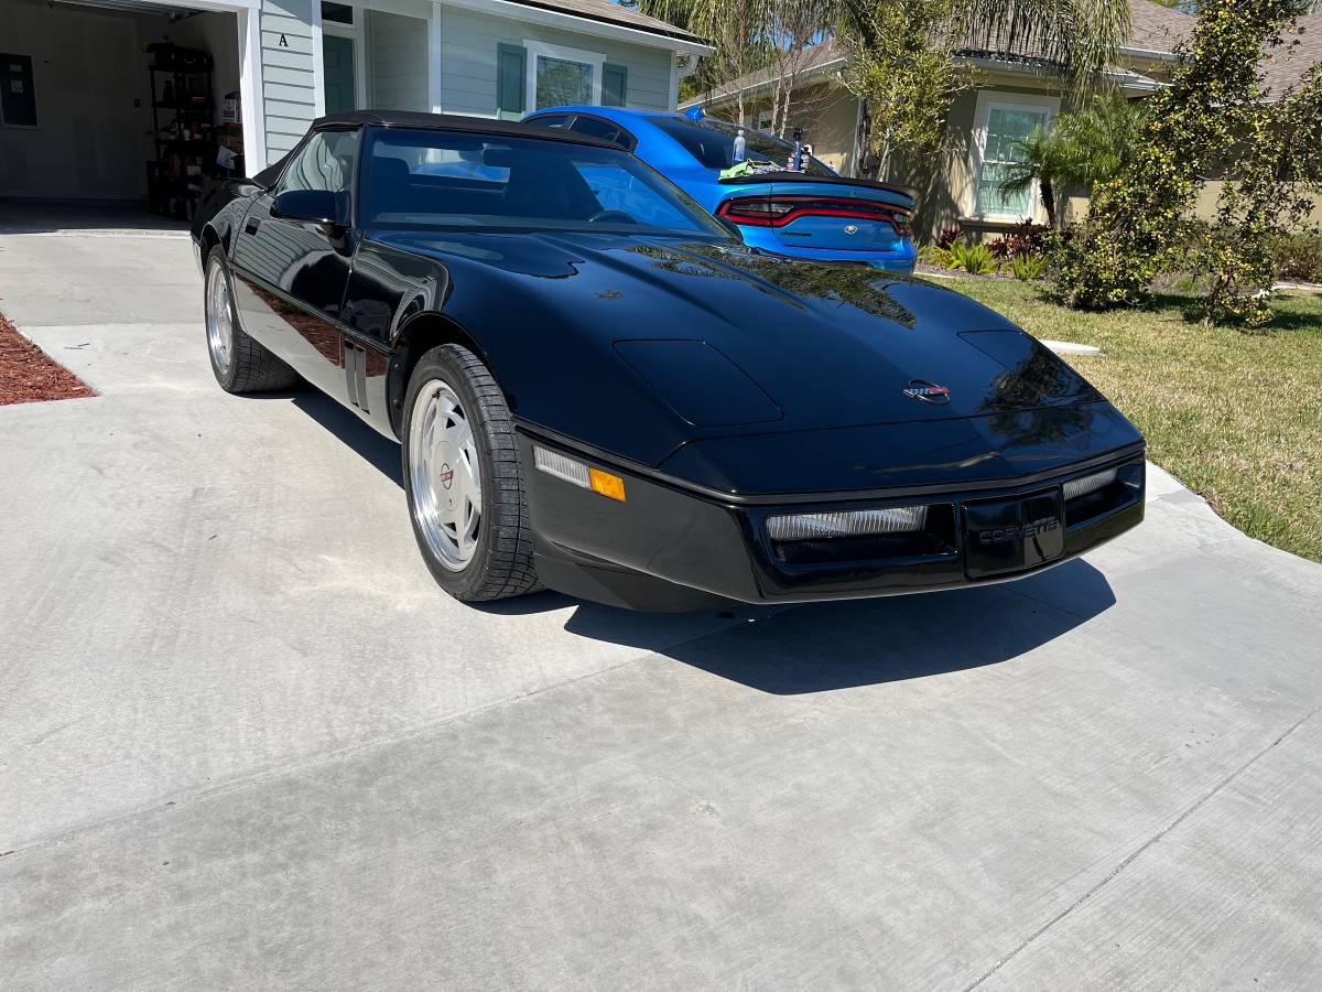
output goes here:
<path id="1" fill-rule="evenodd" d="M 316 115 L 312 4 L 317 1 L 262 0 L 262 102 L 268 161 L 297 144 Z M 286 45 L 280 45 L 282 34 Z"/>

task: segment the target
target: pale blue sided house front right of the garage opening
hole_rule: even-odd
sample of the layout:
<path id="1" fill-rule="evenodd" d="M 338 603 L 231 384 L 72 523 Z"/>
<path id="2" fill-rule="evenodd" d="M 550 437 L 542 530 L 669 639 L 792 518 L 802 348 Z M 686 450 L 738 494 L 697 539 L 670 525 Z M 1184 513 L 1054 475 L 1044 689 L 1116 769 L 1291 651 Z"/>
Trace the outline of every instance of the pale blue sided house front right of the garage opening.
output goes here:
<path id="1" fill-rule="evenodd" d="M 332 110 L 506 119 L 578 101 L 670 110 L 680 79 L 711 50 L 611 0 L 260 4 L 266 160 Z"/>

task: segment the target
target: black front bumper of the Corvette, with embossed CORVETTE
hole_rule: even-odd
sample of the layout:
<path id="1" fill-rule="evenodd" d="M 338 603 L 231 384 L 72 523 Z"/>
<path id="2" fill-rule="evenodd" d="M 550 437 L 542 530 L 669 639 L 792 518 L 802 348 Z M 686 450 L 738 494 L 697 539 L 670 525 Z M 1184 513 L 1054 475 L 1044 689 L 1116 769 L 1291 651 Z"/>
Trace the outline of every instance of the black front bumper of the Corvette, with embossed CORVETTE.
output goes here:
<path id="1" fill-rule="evenodd" d="M 534 443 L 620 475 L 627 501 L 534 470 Z M 1141 446 L 1050 477 L 895 499 L 833 493 L 792 503 L 702 491 L 522 429 L 520 456 L 541 579 L 570 595 L 640 610 L 857 599 L 1003 582 L 1069 561 L 1144 518 Z M 1066 481 L 1109 468 L 1121 471 L 1104 493 L 1064 499 Z M 928 524 L 906 538 L 777 544 L 767 529 L 775 515 L 915 504 L 929 507 Z"/>

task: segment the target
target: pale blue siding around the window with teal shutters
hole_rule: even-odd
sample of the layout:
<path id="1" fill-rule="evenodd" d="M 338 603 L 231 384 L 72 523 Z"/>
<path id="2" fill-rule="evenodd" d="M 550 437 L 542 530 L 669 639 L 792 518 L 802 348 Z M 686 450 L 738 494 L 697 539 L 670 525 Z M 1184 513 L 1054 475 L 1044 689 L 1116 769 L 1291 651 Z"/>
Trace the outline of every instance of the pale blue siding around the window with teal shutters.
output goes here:
<path id="1" fill-rule="evenodd" d="M 442 8 L 440 73 L 442 101 L 447 114 L 496 115 L 496 48 L 545 41 L 587 52 L 599 52 L 612 65 L 629 70 L 627 103 L 639 110 L 673 110 L 670 104 L 669 52 L 557 30 L 537 24 Z M 529 107 L 527 110 L 531 110 Z"/>

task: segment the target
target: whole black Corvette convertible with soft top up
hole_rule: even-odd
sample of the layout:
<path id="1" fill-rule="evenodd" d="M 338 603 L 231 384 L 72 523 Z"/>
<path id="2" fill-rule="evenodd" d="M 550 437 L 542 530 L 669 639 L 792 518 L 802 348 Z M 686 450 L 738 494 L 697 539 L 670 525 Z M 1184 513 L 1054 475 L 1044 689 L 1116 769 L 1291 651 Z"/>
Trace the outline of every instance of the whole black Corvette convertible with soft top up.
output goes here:
<path id="1" fill-rule="evenodd" d="M 193 225 L 231 393 L 402 443 L 464 600 L 802 602 L 1018 578 L 1144 515 L 1144 440 L 960 294 L 738 235 L 620 148 L 336 114 Z"/>

